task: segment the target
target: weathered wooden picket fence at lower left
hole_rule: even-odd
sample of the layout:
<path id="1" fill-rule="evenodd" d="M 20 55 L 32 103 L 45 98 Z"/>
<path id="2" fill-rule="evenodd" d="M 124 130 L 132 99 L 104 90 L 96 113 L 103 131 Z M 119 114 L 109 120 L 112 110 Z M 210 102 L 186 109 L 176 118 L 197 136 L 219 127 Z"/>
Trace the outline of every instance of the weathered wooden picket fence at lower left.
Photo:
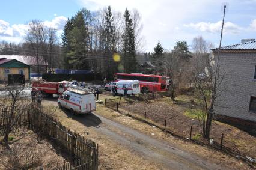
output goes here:
<path id="1" fill-rule="evenodd" d="M 73 132 L 52 117 L 44 114 L 37 106 L 30 105 L 14 109 L 13 117 L 11 108 L 0 109 L 0 135 L 10 124 L 10 120 L 17 118 L 12 132 L 31 129 L 40 138 L 50 139 L 56 150 L 64 153 L 71 162 L 64 163 L 59 169 L 97 169 L 98 145 L 88 138 Z"/>

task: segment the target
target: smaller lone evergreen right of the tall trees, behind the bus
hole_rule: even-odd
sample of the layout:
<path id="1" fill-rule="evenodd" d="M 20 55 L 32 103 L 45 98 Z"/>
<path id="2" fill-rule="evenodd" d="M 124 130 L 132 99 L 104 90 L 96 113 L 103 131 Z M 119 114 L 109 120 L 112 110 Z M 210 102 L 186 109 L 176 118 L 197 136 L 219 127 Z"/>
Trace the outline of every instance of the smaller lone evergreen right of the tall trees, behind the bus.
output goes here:
<path id="1" fill-rule="evenodd" d="M 163 47 L 160 44 L 160 41 L 158 41 L 156 47 L 154 47 L 153 52 L 153 64 L 156 65 L 156 73 L 160 74 L 160 72 L 163 71 L 162 65 L 163 65 Z"/>

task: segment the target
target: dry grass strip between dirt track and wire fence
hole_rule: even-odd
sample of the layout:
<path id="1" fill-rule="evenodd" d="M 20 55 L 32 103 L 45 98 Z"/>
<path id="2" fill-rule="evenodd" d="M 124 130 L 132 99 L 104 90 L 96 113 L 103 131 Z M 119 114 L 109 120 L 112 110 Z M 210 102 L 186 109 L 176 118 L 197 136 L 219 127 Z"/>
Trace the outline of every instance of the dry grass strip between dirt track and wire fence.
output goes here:
<path id="1" fill-rule="evenodd" d="M 209 160 L 209 162 L 216 163 L 218 165 L 224 166 L 225 168 L 250 169 L 250 167 L 246 163 L 237 160 L 234 157 L 228 156 L 216 150 L 212 150 L 208 147 L 202 147 L 189 141 L 177 139 L 174 136 L 171 136 L 168 133 L 157 129 L 156 127 L 142 123 L 141 121 L 127 117 L 125 115 L 121 115 L 120 113 L 115 112 L 112 109 L 106 108 L 103 105 L 97 105 L 96 113 L 113 121 L 117 121 L 118 123 L 124 124 L 128 127 L 132 127 L 133 129 L 139 130 L 140 132 L 148 134 L 153 138 L 169 142 L 170 144 L 175 145 L 175 147 L 180 148 L 181 150 L 186 150 L 191 154 L 196 154 L 197 156 L 202 157 L 202 159 Z"/>

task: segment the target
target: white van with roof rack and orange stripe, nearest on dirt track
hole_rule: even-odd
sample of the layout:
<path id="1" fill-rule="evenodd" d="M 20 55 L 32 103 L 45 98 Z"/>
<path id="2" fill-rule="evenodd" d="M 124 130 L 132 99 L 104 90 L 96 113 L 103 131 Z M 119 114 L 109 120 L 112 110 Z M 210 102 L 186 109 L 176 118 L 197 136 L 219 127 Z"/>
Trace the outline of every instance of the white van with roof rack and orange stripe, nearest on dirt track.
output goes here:
<path id="1" fill-rule="evenodd" d="M 96 110 L 96 100 L 93 91 L 86 88 L 69 87 L 58 99 L 59 107 L 70 110 L 72 114 L 86 114 Z"/>

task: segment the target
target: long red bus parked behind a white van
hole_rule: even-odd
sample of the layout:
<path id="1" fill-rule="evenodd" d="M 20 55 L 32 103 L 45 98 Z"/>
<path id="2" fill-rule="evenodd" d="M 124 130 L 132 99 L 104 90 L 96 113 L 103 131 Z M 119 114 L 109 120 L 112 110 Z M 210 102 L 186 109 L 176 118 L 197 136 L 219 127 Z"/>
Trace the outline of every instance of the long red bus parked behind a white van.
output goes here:
<path id="1" fill-rule="evenodd" d="M 141 73 L 116 73 L 115 80 L 139 80 L 141 91 L 166 91 L 169 88 L 169 78 L 159 75 L 146 75 Z"/>

